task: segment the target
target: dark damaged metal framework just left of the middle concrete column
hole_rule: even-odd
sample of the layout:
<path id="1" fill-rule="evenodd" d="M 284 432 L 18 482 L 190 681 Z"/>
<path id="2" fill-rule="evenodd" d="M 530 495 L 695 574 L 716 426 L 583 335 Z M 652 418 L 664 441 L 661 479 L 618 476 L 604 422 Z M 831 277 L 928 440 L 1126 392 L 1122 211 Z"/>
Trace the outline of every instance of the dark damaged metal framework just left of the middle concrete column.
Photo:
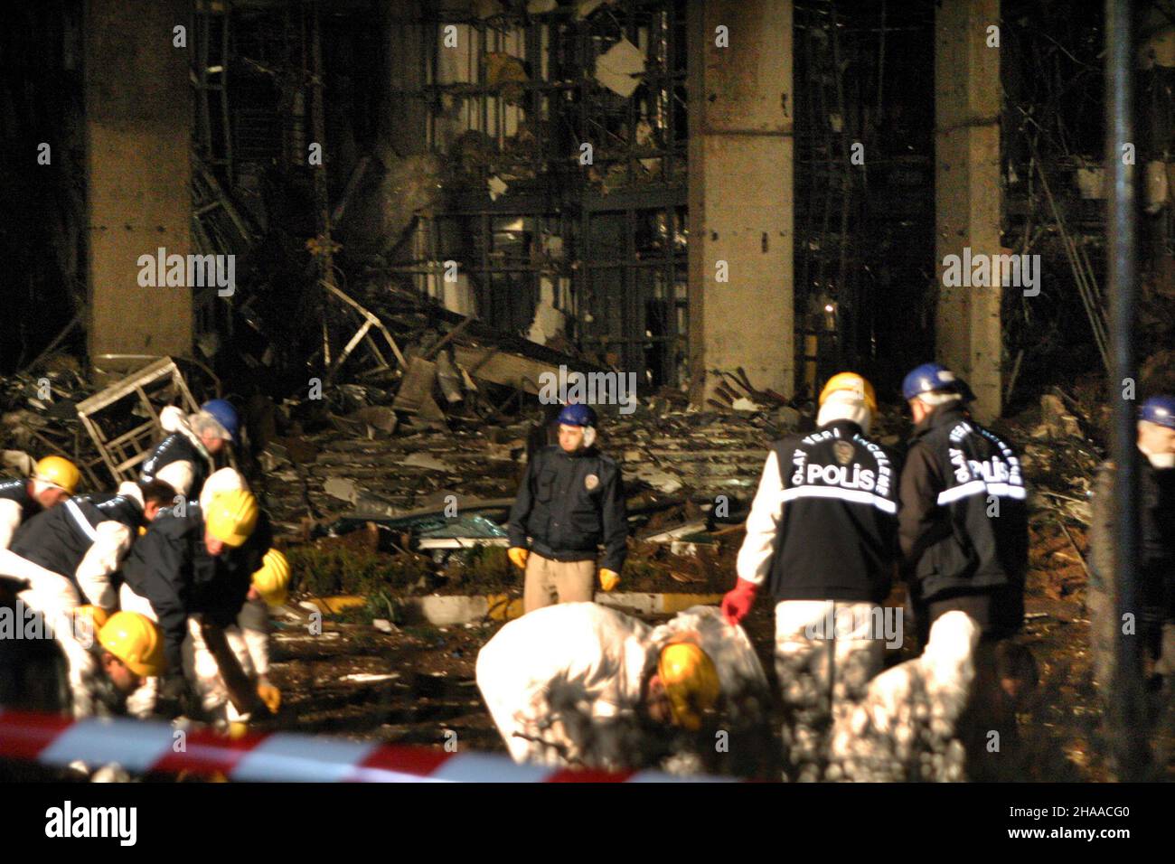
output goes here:
<path id="1" fill-rule="evenodd" d="M 550 279 L 568 334 L 583 349 L 643 383 L 679 383 L 689 333 L 685 0 L 622 0 L 586 19 L 560 7 L 484 20 L 435 12 L 417 22 L 432 28 L 435 47 L 422 91 L 403 93 L 429 106 L 429 148 L 452 145 L 446 133 L 456 139 L 456 114 L 462 134 L 484 135 L 492 158 L 463 178 L 463 192 L 442 210 L 419 219 L 410 260 L 389 270 L 436 296 L 445 262 L 458 261 L 481 317 L 508 330 L 529 324 Z M 451 62 L 442 68 L 450 25 L 458 41 L 468 40 L 464 80 L 445 80 Z M 585 74 L 620 39 L 645 56 L 629 98 Z M 526 80 L 506 93 L 488 81 L 485 58 L 515 51 Z M 579 163 L 582 143 L 592 146 L 588 166 Z M 488 183 L 504 173 L 509 189 L 494 200 Z M 516 249 L 502 228 L 508 220 L 531 227 L 516 232 L 523 235 Z M 464 248 L 454 225 L 471 237 Z M 528 254 L 539 234 L 563 239 L 562 261 Z M 624 242 L 600 242 L 610 234 Z"/>

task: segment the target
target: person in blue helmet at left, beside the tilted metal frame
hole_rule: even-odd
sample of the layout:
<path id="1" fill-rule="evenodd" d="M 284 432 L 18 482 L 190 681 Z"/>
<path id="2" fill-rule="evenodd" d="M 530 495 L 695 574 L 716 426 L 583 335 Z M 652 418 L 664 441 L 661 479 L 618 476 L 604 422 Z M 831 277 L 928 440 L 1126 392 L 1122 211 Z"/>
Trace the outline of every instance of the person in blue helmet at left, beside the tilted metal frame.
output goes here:
<path id="1" fill-rule="evenodd" d="M 236 409 L 223 398 L 209 400 L 189 415 L 168 406 L 160 411 L 159 422 L 169 435 L 143 462 L 142 481 L 161 480 L 176 495 L 199 498 L 204 481 L 216 470 L 216 454 L 237 441 L 241 421 Z"/>

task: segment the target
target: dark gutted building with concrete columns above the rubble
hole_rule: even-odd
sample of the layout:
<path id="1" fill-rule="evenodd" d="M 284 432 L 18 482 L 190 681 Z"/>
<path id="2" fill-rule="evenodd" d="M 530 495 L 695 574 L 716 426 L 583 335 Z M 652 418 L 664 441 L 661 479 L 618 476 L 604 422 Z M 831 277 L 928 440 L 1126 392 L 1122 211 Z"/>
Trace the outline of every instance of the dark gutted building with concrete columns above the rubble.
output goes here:
<path id="1" fill-rule="evenodd" d="M 954 20 L 952 5 L 884 0 L 181 4 L 159 21 L 129 9 L 88 7 L 110 16 L 98 32 L 81 4 L 45 4 L 6 28 L 5 138 L 14 152 L 51 148 L 46 170 L 6 182 L 31 226 L 5 235 L 21 322 L 5 335 L 8 371 L 66 343 L 99 368 L 192 355 L 302 387 L 349 337 L 323 282 L 360 302 L 472 314 L 701 406 L 721 369 L 811 397 L 839 368 L 892 391 L 938 356 L 995 416 L 1019 387 L 1030 396 L 1087 369 L 1087 348 L 1106 355 L 1096 14 L 962 4 Z M 120 15 L 142 28 L 141 49 Z M 973 34 L 968 15 L 1002 21 L 998 51 L 936 38 Z M 163 19 L 187 22 L 190 45 L 145 74 L 140 52 Z M 738 67 L 737 52 L 719 62 L 721 38 L 700 34 L 727 19 L 757 40 L 754 62 L 774 52 L 771 74 Z M 1156 6 L 1139 72 L 1146 288 L 1159 302 L 1170 294 L 1164 20 Z M 136 62 L 118 62 L 127 52 Z M 85 76 L 87 61 L 103 80 Z M 150 143 L 110 129 L 152 129 Z M 103 188 L 102 147 L 146 163 Z M 174 210 L 181 186 L 192 214 Z M 177 302 L 133 297 L 103 270 L 99 237 L 118 256 L 143 232 L 179 254 L 236 255 L 240 293 L 125 314 Z M 965 246 L 1040 254 L 1042 297 L 948 296 L 936 262 Z M 1156 342 L 1166 317 L 1147 315 Z"/>

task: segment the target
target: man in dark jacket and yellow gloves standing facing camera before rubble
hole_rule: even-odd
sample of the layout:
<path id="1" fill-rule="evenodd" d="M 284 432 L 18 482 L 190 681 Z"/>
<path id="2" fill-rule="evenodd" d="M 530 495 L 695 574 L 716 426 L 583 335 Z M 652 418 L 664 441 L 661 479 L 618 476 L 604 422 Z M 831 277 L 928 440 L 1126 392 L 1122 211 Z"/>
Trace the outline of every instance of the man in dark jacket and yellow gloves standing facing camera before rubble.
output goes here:
<path id="1" fill-rule="evenodd" d="M 559 443 L 535 454 L 510 510 L 509 555 L 526 571 L 525 611 L 591 602 L 600 544 L 599 583 L 611 591 L 627 537 L 620 468 L 596 449 L 596 411 L 568 406 L 559 414 Z"/>

